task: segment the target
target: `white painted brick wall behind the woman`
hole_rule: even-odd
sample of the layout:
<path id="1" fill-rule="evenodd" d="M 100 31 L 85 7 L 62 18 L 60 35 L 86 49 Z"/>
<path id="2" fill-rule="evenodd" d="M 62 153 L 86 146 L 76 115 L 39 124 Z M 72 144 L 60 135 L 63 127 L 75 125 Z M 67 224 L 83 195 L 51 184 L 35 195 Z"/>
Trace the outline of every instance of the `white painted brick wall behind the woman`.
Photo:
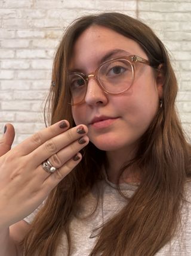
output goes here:
<path id="1" fill-rule="evenodd" d="M 150 25 L 171 53 L 180 83 L 177 106 L 191 125 L 191 0 L 0 0 L 0 129 L 19 143 L 44 127 L 54 49 L 63 29 L 82 14 L 121 11 Z"/>

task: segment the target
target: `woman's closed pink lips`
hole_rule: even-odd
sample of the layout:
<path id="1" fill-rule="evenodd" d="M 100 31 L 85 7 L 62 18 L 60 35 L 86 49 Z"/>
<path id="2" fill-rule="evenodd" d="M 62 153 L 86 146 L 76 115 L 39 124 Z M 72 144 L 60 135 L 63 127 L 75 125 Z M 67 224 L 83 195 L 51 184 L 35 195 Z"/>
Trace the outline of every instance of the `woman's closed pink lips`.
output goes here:
<path id="1" fill-rule="evenodd" d="M 107 128 L 111 124 L 113 124 L 113 122 L 115 122 L 116 119 L 118 118 L 113 118 L 110 116 L 97 116 L 92 119 L 92 121 L 90 122 L 90 125 L 91 127 L 94 127 L 94 128 Z"/>

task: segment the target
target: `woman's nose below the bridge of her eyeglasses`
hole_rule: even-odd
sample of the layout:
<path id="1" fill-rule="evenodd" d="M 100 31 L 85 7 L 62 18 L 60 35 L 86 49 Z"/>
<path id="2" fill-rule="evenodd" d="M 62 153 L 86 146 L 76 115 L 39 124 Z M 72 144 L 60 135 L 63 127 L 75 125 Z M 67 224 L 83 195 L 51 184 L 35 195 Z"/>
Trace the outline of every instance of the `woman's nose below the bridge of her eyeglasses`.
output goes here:
<path id="1" fill-rule="evenodd" d="M 85 103 L 90 106 L 107 104 L 107 95 L 98 85 L 96 77 L 88 77 L 87 93 L 85 95 Z"/>

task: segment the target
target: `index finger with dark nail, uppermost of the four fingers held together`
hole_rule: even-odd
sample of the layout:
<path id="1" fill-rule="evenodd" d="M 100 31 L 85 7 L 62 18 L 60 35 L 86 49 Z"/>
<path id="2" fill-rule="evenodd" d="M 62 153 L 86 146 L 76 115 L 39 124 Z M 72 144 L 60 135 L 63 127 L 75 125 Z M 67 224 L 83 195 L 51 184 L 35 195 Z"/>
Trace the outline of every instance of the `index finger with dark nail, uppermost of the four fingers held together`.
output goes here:
<path id="1" fill-rule="evenodd" d="M 45 141 L 55 137 L 61 132 L 66 131 L 70 127 L 67 120 L 62 120 L 50 127 L 44 128 L 39 132 L 36 132 L 31 137 L 20 143 L 15 149 L 19 150 L 21 155 L 27 155 L 28 153 L 41 146 Z"/>

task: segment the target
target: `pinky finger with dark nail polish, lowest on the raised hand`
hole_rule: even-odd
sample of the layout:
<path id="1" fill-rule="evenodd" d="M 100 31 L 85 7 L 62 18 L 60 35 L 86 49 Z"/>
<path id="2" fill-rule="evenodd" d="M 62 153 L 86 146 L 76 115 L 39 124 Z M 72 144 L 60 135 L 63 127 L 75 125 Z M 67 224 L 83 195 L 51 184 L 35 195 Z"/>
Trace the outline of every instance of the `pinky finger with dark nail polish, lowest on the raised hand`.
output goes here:
<path id="1" fill-rule="evenodd" d="M 56 186 L 64 177 L 66 177 L 67 174 L 70 173 L 70 171 L 73 170 L 74 167 L 81 161 L 82 155 L 81 153 L 76 153 L 73 158 L 69 159 L 65 164 L 63 164 L 62 167 L 58 168 L 53 174 L 48 176 L 45 183 L 48 183 L 48 186 Z"/>

